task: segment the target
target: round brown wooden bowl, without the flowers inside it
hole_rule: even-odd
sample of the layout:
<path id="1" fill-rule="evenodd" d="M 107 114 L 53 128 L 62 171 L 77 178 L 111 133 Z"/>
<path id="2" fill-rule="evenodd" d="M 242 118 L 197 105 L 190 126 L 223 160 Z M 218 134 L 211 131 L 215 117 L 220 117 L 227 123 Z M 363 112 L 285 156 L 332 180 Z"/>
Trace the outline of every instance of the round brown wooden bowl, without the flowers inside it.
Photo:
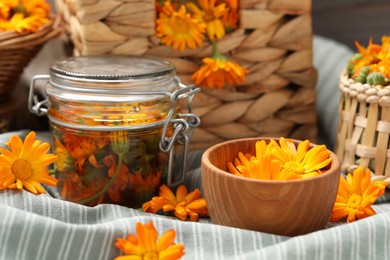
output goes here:
<path id="1" fill-rule="evenodd" d="M 257 180 L 229 173 L 227 162 L 233 162 L 240 151 L 255 155 L 255 143 L 259 140 L 268 143 L 270 138 L 227 141 L 210 147 L 203 154 L 203 192 L 212 222 L 285 236 L 324 228 L 340 181 L 337 156 L 331 152 L 329 170 L 307 179 Z"/>

